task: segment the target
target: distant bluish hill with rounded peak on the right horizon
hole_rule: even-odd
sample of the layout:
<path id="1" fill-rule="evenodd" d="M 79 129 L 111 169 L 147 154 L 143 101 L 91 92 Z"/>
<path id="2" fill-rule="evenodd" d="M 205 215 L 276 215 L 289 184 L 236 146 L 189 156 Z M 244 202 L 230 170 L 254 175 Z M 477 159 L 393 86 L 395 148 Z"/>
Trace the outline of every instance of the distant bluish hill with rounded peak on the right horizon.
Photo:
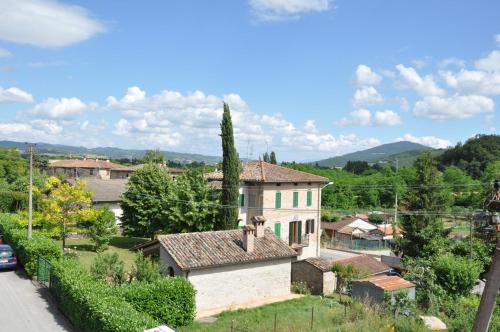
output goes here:
<path id="1" fill-rule="evenodd" d="M 348 153 L 343 156 L 332 157 L 319 160 L 312 164 L 318 164 L 322 167 L 344 167 L 351 160 L 364 160 L 369 163 L 394 163 L 397 159 L 400 166 L 411 165 L 417 159 L 423 150 L 433 150 L 433 154 L 439 154 L 438 151 L 428 146 L 413 142 L 395 142 L 370 148 L 367 150 Z"/>

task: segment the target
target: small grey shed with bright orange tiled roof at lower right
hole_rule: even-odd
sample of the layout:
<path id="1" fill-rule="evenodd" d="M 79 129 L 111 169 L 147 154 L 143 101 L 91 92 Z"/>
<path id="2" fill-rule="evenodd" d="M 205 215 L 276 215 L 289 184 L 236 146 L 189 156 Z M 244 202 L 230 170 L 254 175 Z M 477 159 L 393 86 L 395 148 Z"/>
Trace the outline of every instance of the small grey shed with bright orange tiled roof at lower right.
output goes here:
<path id="1" fill-rule="evenodd" d="M 398 276 L 379 275 L 352 282 L 352 297 L 355 299 L 369 299 L 375 303 L 384 302 L 385 293 L 389 293 L 394 301 L 394 293 L 408 291 L 408 297 L 415 299 L 415 284 Z"/>

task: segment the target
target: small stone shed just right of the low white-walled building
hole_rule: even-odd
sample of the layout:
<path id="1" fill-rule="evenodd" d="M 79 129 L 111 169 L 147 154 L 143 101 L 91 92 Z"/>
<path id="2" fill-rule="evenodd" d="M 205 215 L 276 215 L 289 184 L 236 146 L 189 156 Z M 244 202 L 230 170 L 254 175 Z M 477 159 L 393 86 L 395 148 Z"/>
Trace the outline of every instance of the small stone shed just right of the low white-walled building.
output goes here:
<path id="1" fill-rule="evenodd" d="M 292 263 L 294 282 L 305 282 L 314 295 L 329 295 L 335 291 L 337 279 L 330 260 L 310 257 Z"/>

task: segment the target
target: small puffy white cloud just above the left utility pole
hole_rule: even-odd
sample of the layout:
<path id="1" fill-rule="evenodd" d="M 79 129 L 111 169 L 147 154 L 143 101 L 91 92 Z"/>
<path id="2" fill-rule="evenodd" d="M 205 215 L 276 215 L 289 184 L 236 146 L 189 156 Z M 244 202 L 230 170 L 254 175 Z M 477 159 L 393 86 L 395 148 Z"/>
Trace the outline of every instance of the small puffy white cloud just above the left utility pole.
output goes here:
<path id="1" fill-rule="evenodd" d="M 88 106 L 78 98 L 47 98 L 26 113 L 42 119 L 70 119 L 86 109 Z"/>

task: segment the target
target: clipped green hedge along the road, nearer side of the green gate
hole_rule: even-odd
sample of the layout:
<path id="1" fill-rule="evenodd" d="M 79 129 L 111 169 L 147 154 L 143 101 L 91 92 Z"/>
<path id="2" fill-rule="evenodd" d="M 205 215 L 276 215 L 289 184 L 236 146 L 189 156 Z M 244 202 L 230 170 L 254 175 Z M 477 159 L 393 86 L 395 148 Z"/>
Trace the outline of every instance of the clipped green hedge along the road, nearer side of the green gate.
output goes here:
<path id="1" fill-rule="evenodd" d="M 51 287 L 61 310 L 83 332 L 142 332 L 159 325 L 114 287 L 92 279 L 76 261 L 54 264 Z"/>

